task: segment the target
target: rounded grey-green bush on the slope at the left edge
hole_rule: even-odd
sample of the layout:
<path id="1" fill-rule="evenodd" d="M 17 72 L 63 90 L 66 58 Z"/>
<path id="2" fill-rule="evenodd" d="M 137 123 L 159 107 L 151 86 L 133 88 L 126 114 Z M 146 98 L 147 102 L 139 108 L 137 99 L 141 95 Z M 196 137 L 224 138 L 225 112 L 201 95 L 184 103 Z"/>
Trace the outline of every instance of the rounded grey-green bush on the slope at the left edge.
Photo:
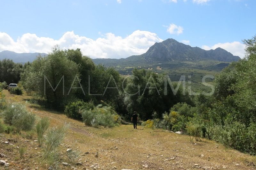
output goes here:
<path id="1" fill-rule="evenodd" d="M 20 103 L 8 103 L 2 116 L 4 123 L 14 126 L 17 132 L 31 130 L 36 119 L 35 115 L 28 112 Z"/>

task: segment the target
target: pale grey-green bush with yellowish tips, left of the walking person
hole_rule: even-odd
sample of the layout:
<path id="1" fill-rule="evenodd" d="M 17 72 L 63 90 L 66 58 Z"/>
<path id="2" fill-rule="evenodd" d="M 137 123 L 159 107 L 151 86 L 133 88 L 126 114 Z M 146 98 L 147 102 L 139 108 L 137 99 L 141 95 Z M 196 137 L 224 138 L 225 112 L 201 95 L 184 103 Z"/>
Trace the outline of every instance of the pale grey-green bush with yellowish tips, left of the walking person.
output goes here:
<path id="1" fill-rule="evenodd" d="M 80 111 L 85 125 L 98 127 L 114 127 L 116 125 L 116 112 L 111 107 L 102 107 L 98 105 L 93 110 L 84 109 Z M 117 121 L 118 122 L 118 121 Z"/>

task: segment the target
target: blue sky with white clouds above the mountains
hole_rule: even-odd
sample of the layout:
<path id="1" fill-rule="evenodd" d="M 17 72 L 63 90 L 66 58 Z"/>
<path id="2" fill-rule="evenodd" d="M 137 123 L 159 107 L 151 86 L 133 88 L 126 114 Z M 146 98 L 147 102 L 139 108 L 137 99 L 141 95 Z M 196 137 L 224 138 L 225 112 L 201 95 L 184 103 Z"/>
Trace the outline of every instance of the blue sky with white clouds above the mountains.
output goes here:
<path id="1" fill-rule="evenodd" d="M 126 58 L 173 38 L 244 57 L 256 34 L 256 0 L 0 0 L 0 51 L 80 48 L 91 58 Z"/>

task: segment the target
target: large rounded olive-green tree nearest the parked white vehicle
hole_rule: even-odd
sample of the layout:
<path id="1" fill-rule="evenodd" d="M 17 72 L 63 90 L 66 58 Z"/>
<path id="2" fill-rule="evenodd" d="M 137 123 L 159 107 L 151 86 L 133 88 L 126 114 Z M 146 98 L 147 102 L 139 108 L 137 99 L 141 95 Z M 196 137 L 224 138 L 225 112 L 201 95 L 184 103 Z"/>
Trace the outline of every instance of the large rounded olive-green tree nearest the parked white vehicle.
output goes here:
<path id="1" fill-rule="evenodd" d="M 79 87 L 80 81 L 78 65 L 68 60 L 65 51 L 58 47 L 45 57 L 38 56 L 21 78 L 25 90 L 35 91 L 50 107 L 59 109 L 75 98 L 76 89 L 71 87 Z"/>

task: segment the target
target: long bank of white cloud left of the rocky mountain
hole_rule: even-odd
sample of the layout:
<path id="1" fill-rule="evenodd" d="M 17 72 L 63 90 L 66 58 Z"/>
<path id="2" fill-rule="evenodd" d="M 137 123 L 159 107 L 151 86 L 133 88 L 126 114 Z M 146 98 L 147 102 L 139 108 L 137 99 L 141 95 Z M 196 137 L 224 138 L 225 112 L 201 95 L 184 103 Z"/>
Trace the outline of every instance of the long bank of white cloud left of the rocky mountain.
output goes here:
<path id="1" fill-rule="evenodd" d="M 59 40 L 26 33 L 14 41 L 7 33 L 0 32 L 0 51 L 48 53 L 54 45 L 58 44 L 63 49 L 80 48 L 84 55 L 92 58 L 121 58 L 143 54 L 155 42 L 161 41 L 163 40 L 156 33 L 140 30 L 134 31 L 125 38 L 106 33 L 104 38 L 96 40 L 69 31 L 64 33 Z"/>

